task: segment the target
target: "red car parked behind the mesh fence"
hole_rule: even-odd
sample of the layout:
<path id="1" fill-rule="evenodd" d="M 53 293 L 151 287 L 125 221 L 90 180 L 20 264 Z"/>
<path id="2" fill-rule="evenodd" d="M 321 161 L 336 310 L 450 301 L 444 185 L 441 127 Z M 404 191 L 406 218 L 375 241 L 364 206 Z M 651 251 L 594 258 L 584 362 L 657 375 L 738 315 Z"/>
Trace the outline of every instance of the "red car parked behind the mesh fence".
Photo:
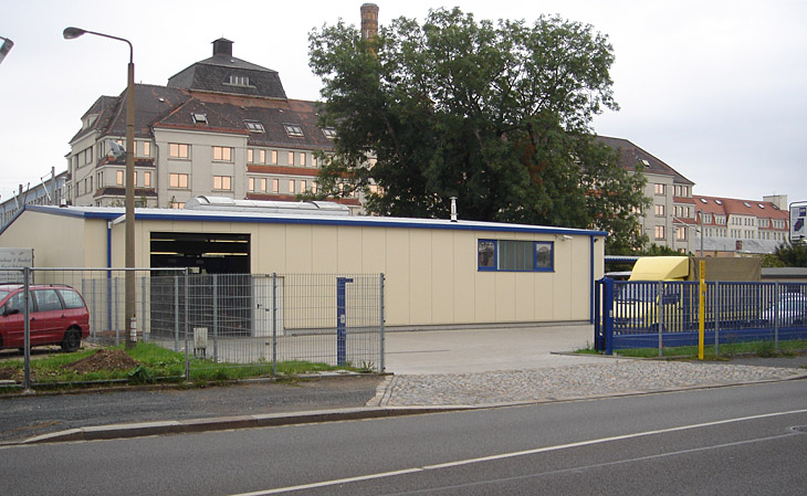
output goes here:
<path id="1" fill-rule="evenodd" d="M 90 312 L 82 295 L 57 284 L 30 286 L 30 294 L 31 346 L 77 350 L 90 335 Z M 24 302 L 21 284 L 0 285 L 0 349 L 25 347 Z"/>

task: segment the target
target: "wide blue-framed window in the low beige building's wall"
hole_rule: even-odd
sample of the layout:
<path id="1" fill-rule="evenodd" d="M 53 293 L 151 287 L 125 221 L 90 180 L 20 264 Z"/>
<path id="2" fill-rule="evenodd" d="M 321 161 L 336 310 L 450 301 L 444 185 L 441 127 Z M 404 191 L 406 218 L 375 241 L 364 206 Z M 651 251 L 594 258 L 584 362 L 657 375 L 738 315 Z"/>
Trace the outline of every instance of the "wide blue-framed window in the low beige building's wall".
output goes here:
<path id="1" fill-rule="evenodd" d="M 551 241 L 479 240 L 478 270 L 489 272 L 553 272 Z"/>

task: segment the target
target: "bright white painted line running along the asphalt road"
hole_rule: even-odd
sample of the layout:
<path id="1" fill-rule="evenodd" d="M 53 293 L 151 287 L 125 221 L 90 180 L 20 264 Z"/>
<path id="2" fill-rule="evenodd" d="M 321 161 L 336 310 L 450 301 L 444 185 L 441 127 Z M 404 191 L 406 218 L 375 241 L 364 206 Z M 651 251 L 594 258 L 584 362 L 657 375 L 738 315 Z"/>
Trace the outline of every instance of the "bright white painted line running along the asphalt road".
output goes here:
<path id="1" fill-rule="evenodd" d="M 798 413 L 807 413 L 807 409 L 790 410 L 787 412 L 763 413 L 759 415 L 717 420 L 717 421 L 713 421 L 713 422 L 703 422 L 700 424 L 659 429 L 656 431 L 636 432 L 632 434 L 622 434 L 622 435 L 615 435 L 615 436 L 610 436 L 610 437 L 600 437 L 600 439 L 596 439 L 596 440 L 578 441 L 576 443 L 557 444 L 555 446 L 536 447 L 534 450 L 524 450 L 524 451 L 517 451 L 517 452 L 512 452 L 512 453 L 502 453 L 499 455 L 491 455 L 491 456 L 481 456 L 479 458 L 468 458 L 468 460 L 460 460 L 457 462 L 439 463 L 436 465 L 425 465 L 422 467 L 405 468 L 405 469 L 392 471 L 392 472 L 379 472 L 377 474 L 359 475 L 356 477 L 347 477 L 347 478 L 339 478 L 339 479 L 333 479 L 333 481 L 323 481 L 323 482 L 318 482 L 318 483 L 302 484 L 298 486 L 279 487 L 275 489 L 258 490 L 254 493 L 241 493 L 241 494 L 234 494 L 231 496 L 264 496 L 264 495 L 271 495 L 271 494 L 291 493 L 291 492 L 295 492 L 295 490 L 314 489 L 314 488 L 318 488 L 318 487 L 335 486 L 338 484 L 356 483 L 356 482 L 361 482 L 361 481 L 371 481 L 371 479 L 385 478 L 385 477 L 395 477 L 397 475 L 417 474 L 420 472 L 451 468 L 451 467 L 458 467 L 458 466 L 462 466 L 462 465 L 471 465 L 474 463 L 493 462 L 493 461 L 497 461 L 497 460 L 513 458 L 516 456 L 527 456 L 527 455 L 534 455 L 534 454 L 538 454 L 538 453 L 548 453 L 548 452 L 553 452 L 553 451 L 568 450 L 572 447 L 590 446 L 594 444 L 610 443 L 614 441 L 623 441 L 623 440 L 644 437 L 644 436 L 657 435 L 657 434 L 668 434 L 671 432 L 690 431 L 693 429 L 711 428 L 714 425 L 723 425 L 723 424 L 737 423 L 737 422 L 747 422 L 751 420 L 759 420 L 759 419 L 771 419 L 771 418 L 775 418 L 775 416 L 793 415 L 793 414 L 798 414 Z M 658 456 L 658 455 L 654 455 L 654 456 Z M 638 458 L 638 460 L 641 460 L 641 458 Z"/>

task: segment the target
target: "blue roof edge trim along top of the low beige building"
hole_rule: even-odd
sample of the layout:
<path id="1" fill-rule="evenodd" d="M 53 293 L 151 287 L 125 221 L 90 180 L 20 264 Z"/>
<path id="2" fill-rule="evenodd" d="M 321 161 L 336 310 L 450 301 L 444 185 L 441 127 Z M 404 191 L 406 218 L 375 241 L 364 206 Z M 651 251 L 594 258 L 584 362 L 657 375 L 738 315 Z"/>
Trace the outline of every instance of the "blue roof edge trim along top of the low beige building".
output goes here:
<path id="1" fill-rule="evenodd" d="M 104 219 L 107 221 L 115 220 L 123 215 L 123 209 L 112 211 L 90 211 L 59 209 L 53 207 L 35 205 L 30 207 L 33 211 L 51 213 L 56 215 L 82 217 L 85 219 Z M 232 223 L 256 223 L 256 224 L 296 224 L 296 225 L 342 225 L 355 228 L 398 228 L 398 229 L 439 229 L 455 231 L 485 231 L 485 232 L 521 232 L 521 233 L 538 233 L 538 234 L 577 234 L 586 236 L 607 236 L 605 231 L 593 231 L 585 229 L 567 229 L 552 228 L 544 225 L 525 225 L 525 224 L 502 224 L 495 222 L 440 222 L 439 220 L 427 219 L 419 221 L 418 219 L 401 218 L 378 218 L 378 217 L 251 217 L 251 215 L 228 215 L 227 213 L 196 213 L 170 210 L 166 213 L 156 213 L 156 209 L 147 211 L 135 211 L 135 218 L 144 221 L 191 221 L 191 222 L 232 222 Z M 168 213 L 170 212 L 170 213 Z M 390 219 L 390 220 L 385 220 Z M 395 220 L 391 220 L 395 219 Z"/>

